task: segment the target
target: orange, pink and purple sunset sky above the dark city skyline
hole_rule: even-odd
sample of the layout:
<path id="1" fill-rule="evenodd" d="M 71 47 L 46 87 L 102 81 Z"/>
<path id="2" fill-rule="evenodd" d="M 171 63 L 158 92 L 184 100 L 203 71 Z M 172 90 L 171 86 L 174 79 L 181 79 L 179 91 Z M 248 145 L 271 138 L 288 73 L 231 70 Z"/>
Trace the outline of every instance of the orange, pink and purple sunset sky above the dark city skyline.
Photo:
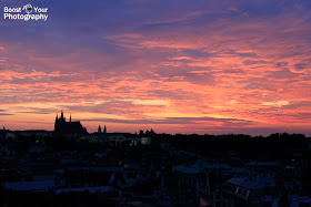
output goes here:
<path id="1" fill-rule="evenodd" d="M 48 8 L 47 21 L 3 7 Z M 1 0 L 0 127 L 311 135 L 310 0 Z"/>

